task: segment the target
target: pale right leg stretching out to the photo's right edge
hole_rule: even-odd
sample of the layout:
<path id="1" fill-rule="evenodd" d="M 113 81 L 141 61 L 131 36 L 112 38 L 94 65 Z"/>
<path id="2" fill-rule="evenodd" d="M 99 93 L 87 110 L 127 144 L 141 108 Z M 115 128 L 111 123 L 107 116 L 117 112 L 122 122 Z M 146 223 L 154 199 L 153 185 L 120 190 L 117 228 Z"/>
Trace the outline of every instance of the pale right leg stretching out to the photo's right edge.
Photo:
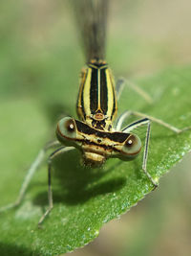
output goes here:
<path id="1" fill-rule="evenodd" d="M 188 129 L 191 129 L 191 127 L 188 127 L 188 128 L 176 128 L 168 123 L 165 123 L 164 121 L 158 119 L 158 118 L 155 118 L 153 116 L 150 116 L 150 115 L 146 115 L 146 114 L 143 114 L 143 113 L 140 113 L 138 111 L 125 111 L 117 120 L 117 124 L 116 124 L 116 129 L 119 130 L 123 124 L 123 122 L 125 121 L 125 119 L 127 119 L 130 115 L 134 115 L 134 116 L 138 116 L 138 117 L 144 117 L 144 118 L 148 118 L 150 121 L 152 122 L 155 122 L 157 124 L 159 124 L 160 126 L 162 127 L 165 127 L 165 128 L 169 128 L 171 129 L 172 131 L 176 132 L 176 133 L 181 133 L 185 130 L 188 130 Z M 123 130 L 125 130 L 126 128 L 123 128 Z"/>

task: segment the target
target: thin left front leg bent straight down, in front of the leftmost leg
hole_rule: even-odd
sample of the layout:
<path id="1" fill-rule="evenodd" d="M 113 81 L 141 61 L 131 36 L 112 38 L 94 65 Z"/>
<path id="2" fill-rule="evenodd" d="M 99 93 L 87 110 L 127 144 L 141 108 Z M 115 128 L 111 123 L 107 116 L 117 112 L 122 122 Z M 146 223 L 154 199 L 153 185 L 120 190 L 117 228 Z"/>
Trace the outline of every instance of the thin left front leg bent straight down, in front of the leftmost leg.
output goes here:
<path id="1" fill-rule="evenodd" d="M 49 199 L 49 207 L 47 211 L 43 214 L 43 216 L 40 218 L 40 221 L 38 221 L 38 227 L 41 226 L 42 222 L 46 219 L 46 217 L 50 214 L 51 210 L 53 209 L 53 191 L 52 191 L 52 182 L 51 182 L 51 171 L 52 171 L 52 162 L 53 158 L 60 154 L 64 153 L 66 151 L 74 150 L 74 147 L 62 147 L 57 149 L 56 151 L 53 151 L 53 153 L 49 156 L 48 159 L 48 199 Z"/>

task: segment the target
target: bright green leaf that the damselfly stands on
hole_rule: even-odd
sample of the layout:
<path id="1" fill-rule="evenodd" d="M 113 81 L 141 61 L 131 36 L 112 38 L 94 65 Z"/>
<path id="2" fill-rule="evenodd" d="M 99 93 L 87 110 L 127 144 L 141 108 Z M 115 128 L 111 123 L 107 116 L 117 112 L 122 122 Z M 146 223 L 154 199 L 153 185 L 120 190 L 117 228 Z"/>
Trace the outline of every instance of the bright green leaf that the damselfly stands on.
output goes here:
<path id="1" fill-rule="evenodd" d="M 136 82 L 152 96 L 154 104 L 148 105 L 125 87 L 119 112 L 138 110 L 177 128 L 191 126 L 191 67 L 169 69 Z M 75 88 L 70 89 L 74 94 Z M 63 94 L 63 101 L 67 97 Z M 16 198 L 27 167 L 46 141 L 49 125 L 32 98 L 2 101 L 0 118 L 4 145 L 0 150 L 0 193 L 1 205 L 5 205 Z M 143 141 L 144 132 L 138 131 Z M 191 131 L 177 135 L 152 124 L 150 175 L 159 178 L 166 174 L 191 150 L 190 142 Z M 54 160 L 54 207 L 42 229 L 37 228 L 37 222 L 48 203 L 45 166 L 34 175 L 23 203 L 1 213 L 1 255 L 57 255 L 84 246 L 98 236 L 104 223 L 127 212 L 153 189 L 141 171 L 142 155 L 131 162 L 110 159 L 96 170 L 81 167 L 79 162 L 78 151 Z"/>

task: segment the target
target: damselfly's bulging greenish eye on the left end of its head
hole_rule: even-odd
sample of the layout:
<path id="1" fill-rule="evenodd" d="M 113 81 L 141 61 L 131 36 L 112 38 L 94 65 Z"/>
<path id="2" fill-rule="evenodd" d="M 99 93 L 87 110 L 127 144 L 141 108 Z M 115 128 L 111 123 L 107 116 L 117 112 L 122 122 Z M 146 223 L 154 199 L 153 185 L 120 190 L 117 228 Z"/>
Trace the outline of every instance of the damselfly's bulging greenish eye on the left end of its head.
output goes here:
<path id="1" fill-rule="evenodd" d="M 71 117 L 62 118 L 57 124 L 57 135 L 66 139 L 74 139 L 76 137 L 74 119 Z"/>

